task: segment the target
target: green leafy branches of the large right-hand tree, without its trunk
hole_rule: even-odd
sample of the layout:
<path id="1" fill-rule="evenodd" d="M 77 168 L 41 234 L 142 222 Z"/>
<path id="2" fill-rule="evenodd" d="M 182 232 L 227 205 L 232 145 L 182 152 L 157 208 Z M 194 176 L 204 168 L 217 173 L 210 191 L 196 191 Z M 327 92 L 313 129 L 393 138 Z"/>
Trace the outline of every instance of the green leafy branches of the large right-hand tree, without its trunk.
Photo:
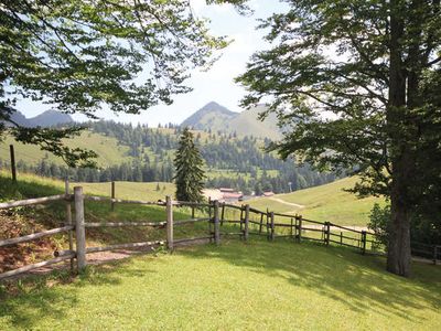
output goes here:
<path id="1" fill-rule="evenodd" d="M 396 2 L 406 8 L 396 12 L 405 25 L 416 24 L 416 20 L 424 22 L 419 26 L 421 38 L 417 46 L 422 54 L 418 61 L 426 60 L 426 65 L 419 66 L 417 74 L 421 85 L 432 88 L 420 94 L 426 97 L 427 106 L 399 115 L 402 118 L 399 127 L 387 120 L 390 2 L 321 1 L 320 6 L 309 0 L 290 2 L 287 13 L 273 14 L 261 24 L 270 29 L 269 41 L 282 42 L 256 53 L 247 72 L 238 77 L 249 88 L 244 105 L 257 104 L 263 96 L 273 97 L 270 111 L 278 113 L 287 128 L 284 140 L 273 145 L 282 157 L 295 153 L 300 160 L 321 169 L 357 167 L 364 181 L 356 191 L 362 194 L 390 194 L 390 162 L 396 151 L 391 136 L 400 131 L 402 140 L 412 145 L 411 150 L 421 149 L 423 142 L 416 135 L 432 132 L 423 118 L 438 111 L 433 106 L 439 100 L 431 95 L 435 89 L 439 95 L 440 85 L 428 84 L 426 79 L 439 77 L 437 56 L 441 40 L 433 32 L 441 28 L 440 4 L 411 8 L 408 1 Z M 413 32 L 410 26 L 406 30 L 402 49 L 410 47 Z M 406 52 L 402 57 L 407 57 L 405 63 L 412 61 Z M 410 108 L 413 107 L 409 105 Z M 412 118 L 412 122 L 427 122 L 423 126 L 427 131 L 413 132 L 412 125 L 405 124 L 405 117 Z M 413 179 L 408 178 L 408 188 L 418 183 Z"/>

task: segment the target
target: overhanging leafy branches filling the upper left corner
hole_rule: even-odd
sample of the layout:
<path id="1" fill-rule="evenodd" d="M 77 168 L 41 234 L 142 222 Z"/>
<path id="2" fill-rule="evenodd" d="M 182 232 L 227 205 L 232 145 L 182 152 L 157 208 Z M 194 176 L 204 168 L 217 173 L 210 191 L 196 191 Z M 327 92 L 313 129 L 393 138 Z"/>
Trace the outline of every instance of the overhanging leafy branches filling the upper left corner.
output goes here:
<path id="1" fill-rule="evenodd" d="M 241 0 L 230 2 L 246 10 Z M 104 104 L 138 114 L 190 90 L 190 70 L 208 67 L 225 38 L 209 35 L 186 0 L 10 0 L 0 7 L 0 137 L 6 125 L 22 142 L 88 163 L 90 151 L 63 147 L 66 130 L 25 129 L 7 106 L 17 98 L 43 100 L 65 113 L 95 117 Z"/>

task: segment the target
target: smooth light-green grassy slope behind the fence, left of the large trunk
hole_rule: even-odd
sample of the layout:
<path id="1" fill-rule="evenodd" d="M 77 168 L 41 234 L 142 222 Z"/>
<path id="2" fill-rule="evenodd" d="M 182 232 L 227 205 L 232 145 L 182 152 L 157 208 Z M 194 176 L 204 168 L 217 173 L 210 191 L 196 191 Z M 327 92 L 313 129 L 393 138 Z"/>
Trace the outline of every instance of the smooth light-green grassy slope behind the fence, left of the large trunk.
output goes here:
<path id="1" fill-rule="evenodd" d="M 325 185 L 300 190 L 289 194 L 277 194 L 275 197 L 289 203 L 304 205 L 303 209 L 283 204 L 269 197 L 249 201 L 257 209 L 267 209 L 281 213 L 299 213 L 306 218 L 329 221 L 341 225 L 366 225 L 369 211 L 375 202 L 383 199 L 357 199 L 343 189 L 354 186 L 356 178 L 345 178 Z"/>

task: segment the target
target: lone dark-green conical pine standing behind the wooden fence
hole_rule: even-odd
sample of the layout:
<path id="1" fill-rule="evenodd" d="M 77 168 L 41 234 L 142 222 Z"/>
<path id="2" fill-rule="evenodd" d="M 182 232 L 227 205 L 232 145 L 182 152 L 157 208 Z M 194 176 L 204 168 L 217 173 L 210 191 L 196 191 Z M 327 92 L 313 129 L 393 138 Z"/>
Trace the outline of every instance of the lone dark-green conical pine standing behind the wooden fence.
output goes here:
<path id="1" fill-rule="evenodd" d="M 203 200 L 202 189 L 205 180 L 203 163 L 200 151 L 193 141 L 193 134 L 185 128 L 180 137 L 174 158 L 178 200 L 192 202 Z"/>

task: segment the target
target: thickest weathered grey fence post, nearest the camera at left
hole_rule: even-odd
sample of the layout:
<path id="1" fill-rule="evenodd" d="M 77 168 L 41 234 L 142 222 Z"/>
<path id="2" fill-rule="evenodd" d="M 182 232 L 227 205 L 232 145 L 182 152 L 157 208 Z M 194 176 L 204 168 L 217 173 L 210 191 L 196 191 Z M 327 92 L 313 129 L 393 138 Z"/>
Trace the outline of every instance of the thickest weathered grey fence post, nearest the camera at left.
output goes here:
<path id="1" fill-rule="evenodd" d="M 76 238 L 76 263 L 78 271 L 86 267 L 86 231 L 84 227 L 84 196 L 83 188 L 74 188 L 75 196 L 75 238 Z"/>

